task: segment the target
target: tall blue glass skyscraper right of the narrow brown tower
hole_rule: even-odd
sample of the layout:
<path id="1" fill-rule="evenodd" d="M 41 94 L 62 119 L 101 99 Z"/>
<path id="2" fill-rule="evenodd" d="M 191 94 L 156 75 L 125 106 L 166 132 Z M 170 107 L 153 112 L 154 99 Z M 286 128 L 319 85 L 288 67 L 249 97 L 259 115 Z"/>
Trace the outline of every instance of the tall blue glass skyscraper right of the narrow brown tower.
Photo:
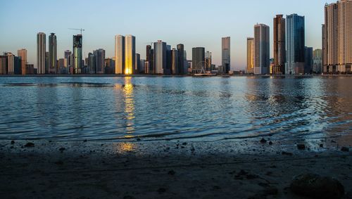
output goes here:
<path id="1" fill-rule="evenodd" d="M 304 16 L 287 15 L 287 75 L 304 73 L 304 28 Z"/>

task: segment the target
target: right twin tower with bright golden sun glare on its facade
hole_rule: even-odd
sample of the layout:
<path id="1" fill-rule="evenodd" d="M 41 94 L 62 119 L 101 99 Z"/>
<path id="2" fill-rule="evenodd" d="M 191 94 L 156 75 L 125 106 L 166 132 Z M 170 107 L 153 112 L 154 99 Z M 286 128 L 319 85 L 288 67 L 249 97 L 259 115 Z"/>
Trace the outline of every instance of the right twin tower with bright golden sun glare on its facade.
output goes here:
<path id="1" fill-rule="evenodd" d="M 125 36 L 125 75 L 134 74 L 136 68 L 136 37 Z"/>

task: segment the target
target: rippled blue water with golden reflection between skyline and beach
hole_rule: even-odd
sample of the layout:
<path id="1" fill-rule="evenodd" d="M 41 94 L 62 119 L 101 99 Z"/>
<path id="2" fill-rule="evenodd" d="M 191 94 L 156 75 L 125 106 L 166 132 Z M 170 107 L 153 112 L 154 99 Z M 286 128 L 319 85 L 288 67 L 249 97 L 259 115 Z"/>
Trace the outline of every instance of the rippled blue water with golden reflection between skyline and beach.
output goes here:
<path id="1" fill-rule="evenodd" d="M 352 134 L 352 77 L 0 77 L 0 139 Z"/>

